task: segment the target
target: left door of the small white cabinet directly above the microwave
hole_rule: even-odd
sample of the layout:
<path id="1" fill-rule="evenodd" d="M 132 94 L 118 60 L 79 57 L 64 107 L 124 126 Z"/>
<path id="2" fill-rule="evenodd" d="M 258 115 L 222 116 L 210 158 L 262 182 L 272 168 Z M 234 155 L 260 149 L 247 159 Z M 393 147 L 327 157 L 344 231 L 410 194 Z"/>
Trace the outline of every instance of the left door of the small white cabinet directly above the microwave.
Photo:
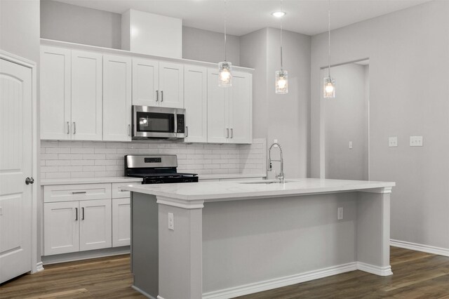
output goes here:
<path id="1" fill-rule="evenodd" d="M 159 61 L 133 59 L 133 105 L 159 106 Z"/>

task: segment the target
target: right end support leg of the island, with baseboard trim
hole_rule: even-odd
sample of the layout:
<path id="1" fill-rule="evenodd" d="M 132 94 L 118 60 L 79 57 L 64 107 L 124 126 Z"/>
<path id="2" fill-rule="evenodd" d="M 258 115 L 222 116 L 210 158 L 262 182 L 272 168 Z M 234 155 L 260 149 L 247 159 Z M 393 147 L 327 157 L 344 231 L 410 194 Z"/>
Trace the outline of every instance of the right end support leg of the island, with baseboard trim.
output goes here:
<path id="1" fill-rule="evenodd" d="M 358 192 L 357 260 L 360 270 L 393 274 L 390 267 L 390 190 Z"/>

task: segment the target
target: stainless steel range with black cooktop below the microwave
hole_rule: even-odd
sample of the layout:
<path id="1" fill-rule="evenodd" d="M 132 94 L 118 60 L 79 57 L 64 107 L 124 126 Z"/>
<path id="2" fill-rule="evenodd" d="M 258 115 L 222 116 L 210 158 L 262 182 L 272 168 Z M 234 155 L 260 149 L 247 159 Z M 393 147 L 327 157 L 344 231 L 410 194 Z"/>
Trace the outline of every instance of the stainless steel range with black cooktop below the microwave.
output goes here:
<path id="1" fill-rule="evenodd" d="M 142 184 L 168 182 L 198 182 L 196 173 L 178 173 L 174 154 L 128 154 L 125 156 L 125 175 L 143 178 Z"/>

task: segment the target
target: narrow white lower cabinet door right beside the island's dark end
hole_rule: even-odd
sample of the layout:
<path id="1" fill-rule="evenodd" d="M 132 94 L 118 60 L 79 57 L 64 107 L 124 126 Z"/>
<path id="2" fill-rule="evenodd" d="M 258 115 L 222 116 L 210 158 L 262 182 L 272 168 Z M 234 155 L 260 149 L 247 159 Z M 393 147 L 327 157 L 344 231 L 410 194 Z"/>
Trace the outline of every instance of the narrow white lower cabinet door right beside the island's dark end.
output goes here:
<path id="1" fill-rule="evenodd" d="M 127 246 L 131 235 L 130 199 L 112 199 L 112 247 Z"/>

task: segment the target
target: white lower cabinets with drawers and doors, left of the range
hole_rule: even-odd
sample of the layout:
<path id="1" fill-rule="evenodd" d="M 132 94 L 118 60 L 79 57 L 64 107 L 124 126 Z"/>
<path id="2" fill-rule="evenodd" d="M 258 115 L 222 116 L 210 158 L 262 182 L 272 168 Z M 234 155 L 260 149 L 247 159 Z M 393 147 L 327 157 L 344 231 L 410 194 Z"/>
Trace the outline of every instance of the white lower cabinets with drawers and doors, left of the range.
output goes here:
<path id="1" fill-rule="evenodd" d="M 43 255 L 130 245 L 133 183 L 44 186 Z"/>

